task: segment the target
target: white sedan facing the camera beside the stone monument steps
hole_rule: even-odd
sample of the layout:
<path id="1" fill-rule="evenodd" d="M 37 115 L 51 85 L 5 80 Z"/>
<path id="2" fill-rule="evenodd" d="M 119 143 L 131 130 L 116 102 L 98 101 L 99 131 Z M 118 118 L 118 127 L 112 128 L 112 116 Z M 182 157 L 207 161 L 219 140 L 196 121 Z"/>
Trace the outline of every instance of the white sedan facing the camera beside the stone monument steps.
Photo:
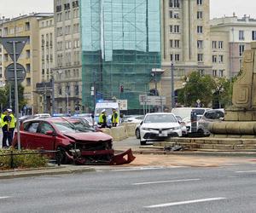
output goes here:
<path id="1" fill-rule="evenodd" d="M 182 136 L 182 129 L 173 113 L 148 113 L 140 127 L 141 145 L 147 141 L 177 136 Z"/>

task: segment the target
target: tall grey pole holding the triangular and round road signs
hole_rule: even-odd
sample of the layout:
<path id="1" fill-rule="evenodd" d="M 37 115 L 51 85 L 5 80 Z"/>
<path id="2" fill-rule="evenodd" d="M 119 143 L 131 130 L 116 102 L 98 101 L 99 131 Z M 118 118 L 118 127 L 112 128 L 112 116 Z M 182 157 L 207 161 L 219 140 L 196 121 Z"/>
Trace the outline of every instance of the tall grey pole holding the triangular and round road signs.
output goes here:
<path id="1" fill-rule="evenodd" d="M 13 48 L 14 48 L 14 64 L 15 64 L 15 114 L 16 114 L 16 118 L 19 118 L 19 96 L 18 96 L 18 79 L 17 79 L 16 41 L 13 41 Z M 19 119 L 17 119 L 16 125 L 17 125 L 18 150 L 20 151 L 20 123 L 19 123 Z"/>

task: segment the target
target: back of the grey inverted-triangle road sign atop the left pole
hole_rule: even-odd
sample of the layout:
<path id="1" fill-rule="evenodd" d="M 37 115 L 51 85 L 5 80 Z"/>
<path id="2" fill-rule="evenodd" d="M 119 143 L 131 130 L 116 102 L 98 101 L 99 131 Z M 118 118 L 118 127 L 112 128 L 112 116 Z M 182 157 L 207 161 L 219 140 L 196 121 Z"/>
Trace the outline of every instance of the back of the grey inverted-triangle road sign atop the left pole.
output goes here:
<path id="1" fill-rule="evenodd" d="M 2 43 L 3 48 L 6 50 L 10 58 L 14 61 L 14 42 L 16 50 L 16 60 L 19 59 L 22 49 L 26 45 L 29 37 L 0 37 L 0 43 Z"/>

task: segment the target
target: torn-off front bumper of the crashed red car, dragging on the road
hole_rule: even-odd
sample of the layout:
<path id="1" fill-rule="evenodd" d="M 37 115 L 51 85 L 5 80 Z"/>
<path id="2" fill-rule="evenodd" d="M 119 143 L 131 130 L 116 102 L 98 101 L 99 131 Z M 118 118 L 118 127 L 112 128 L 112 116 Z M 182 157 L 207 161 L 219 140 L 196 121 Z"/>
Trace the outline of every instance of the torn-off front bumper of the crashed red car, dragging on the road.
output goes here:
<path id="1" fill-rule="evenodd" d="M 67 158 L 75 164 L 92 165 L 92 164 L 130 164 L 136 157 L 132 154 L 131 148 L 124 153 L 114 155 L 114 150 L 97 150 L 97 151 L 80 151 L 72 149 L 66 152 Z"/>

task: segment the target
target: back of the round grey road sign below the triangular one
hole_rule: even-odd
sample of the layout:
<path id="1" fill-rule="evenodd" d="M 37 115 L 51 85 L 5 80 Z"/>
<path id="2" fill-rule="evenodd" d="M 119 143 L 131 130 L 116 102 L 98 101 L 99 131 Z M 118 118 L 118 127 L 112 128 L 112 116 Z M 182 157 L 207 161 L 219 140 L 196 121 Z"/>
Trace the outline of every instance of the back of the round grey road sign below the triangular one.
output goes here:
<path id="1" fill-rule="evenodd" d="M 24 66 L 17 63 L 17 81 L 21 83 L 26 77 L 26 70 Z M 5 78 L 9 81 L 15 81 L 15 64 L 10 64 L 5 69 Z"/>

